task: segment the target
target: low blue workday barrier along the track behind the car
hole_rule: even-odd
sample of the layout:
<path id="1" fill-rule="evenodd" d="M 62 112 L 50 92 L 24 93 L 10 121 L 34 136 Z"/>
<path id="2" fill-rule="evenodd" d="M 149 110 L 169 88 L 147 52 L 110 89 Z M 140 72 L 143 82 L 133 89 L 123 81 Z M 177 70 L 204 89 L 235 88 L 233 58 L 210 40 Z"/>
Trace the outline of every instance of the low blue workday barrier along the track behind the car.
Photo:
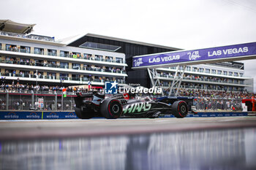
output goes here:
<path id="1" fill-rule="evenodd" d="M 197 115 L 187 115 L 187 117 L 236 117 L 248 116 L 248 112 L 198 112 Z M 164 115 L 161 117 L 174 117 Z M 75 112 L 22 112 L 22 111 L 1 111 L 0 120 L 45 120 L 45 119 L 78 119 Z"/>

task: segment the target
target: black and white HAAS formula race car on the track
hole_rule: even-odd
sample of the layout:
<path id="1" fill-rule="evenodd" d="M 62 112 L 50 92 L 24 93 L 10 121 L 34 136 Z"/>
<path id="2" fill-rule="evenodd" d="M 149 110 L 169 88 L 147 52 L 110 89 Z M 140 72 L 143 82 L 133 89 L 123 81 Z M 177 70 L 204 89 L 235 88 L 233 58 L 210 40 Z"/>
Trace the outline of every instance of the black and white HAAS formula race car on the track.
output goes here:
<path id="1" fill-rule="evenodd" d="M 75 114 L 81 119 L 91 117 L 159 117 L 159 115 L 174 115 L 186 117 L 189 107 L 186 101 L 178 98 L 136 98 L 134 94 L 118 93 L 108 98 L 97 92 L 77 93 L 75 97 Z"/>

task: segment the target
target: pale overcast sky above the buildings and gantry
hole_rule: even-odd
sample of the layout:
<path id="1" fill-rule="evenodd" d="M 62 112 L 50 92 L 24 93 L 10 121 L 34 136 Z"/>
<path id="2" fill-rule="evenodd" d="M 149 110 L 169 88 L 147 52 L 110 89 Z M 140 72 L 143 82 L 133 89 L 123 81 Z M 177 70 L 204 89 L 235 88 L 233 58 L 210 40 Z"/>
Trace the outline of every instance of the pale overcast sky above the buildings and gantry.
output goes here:
<path id="1" fill-rule="evenodd" d="M 93 33 L 187 50 L 256 41 L 255 0 L 1 0 L 0 16 L 56 39 Z M 245 61 L 256 86 L 255 64 Z"/>

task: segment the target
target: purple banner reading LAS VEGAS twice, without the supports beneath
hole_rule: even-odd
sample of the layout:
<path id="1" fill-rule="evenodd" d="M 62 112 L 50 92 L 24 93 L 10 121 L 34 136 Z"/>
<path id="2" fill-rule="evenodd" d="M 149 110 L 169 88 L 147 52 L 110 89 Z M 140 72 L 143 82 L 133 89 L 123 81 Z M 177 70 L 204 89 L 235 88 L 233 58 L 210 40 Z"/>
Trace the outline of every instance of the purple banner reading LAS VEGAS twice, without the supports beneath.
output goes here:
<path id="1" fill-rule="evenodd" d="M 168 63 L 182 63 L 189 61 L 205 61 L 218 58 L 233 58 L 246 55 L 256 55 L 256 42 L 241 45 L 228 45 L 200 50 L 184 50 L 153 55 L 135 56 L 132 67 L 154 66 Z"/>

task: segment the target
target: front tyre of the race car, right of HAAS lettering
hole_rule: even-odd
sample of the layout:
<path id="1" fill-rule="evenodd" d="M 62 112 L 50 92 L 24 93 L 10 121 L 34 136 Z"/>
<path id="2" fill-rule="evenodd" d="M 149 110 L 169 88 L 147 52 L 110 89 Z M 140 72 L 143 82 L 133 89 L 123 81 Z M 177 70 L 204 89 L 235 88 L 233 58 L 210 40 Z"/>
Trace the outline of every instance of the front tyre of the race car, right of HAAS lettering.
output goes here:
<path id="1" fill-rule="evenodd" d="M 183 118 L 187 116 L 189 108 L 185 101 L 175 101 L 172 105 L 172 114 L 177 118 Z"/>

